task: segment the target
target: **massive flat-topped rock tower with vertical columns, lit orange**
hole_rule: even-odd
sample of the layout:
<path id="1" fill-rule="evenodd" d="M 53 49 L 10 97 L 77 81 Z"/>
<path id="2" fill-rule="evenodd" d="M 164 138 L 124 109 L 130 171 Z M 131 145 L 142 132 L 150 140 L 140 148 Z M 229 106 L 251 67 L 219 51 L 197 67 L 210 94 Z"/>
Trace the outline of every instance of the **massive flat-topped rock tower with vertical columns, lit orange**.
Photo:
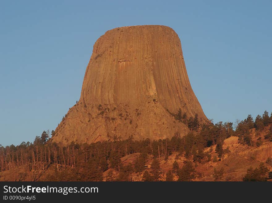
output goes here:
<path id="1" fill-rule="evenodd" d="M 171 138 L 189 129 L 169 112 L 208 122 L 189 82 L 181 41 L 166 26 L 118 27 L 93 47 L 79 102 L 53 142 Z"/>

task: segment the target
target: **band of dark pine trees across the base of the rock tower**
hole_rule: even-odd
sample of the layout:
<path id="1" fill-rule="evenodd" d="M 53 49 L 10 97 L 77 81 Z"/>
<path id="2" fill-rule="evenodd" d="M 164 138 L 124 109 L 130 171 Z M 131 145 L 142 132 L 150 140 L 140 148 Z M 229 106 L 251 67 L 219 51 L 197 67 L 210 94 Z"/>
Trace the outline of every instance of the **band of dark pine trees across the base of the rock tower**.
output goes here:
<path id="1" fill-rule="evenodd" d="M 175 116 L 179 120 L 180 115 L 183 114 L 181 111 L 177 114 Z M 223 149 L 223 142 L 234 135 L 239 136 L 240 142 L 252 146 L 251 139 L 247 137 L 248 132 L 252 128 L 261 130 L 261 126 L 270 125 L 272 115 L 270 117 L 267 115 L 268 112 L 265 112 L 262 117 L 257 116 L 255 121 L 249 115 L 244 121 L 237 124 L 236 131 L 233 129 L 232 122 L 223 123 L 221 121 L 216 124 L 200 125 L 196 115 L 193 118 L 195 121 L 192 122 L 192 126 L 188 122 L 188 125 L 191 126 L 189 134 L 182 137 L 179 132 L 176 132 L 171 139 L 153 141 L 150 139 L 137 141 L 130 136 L 126 140 L 116 138 L 113 141 L 91 144 L 71 142 L 70 145 L 64 146 L 50 142 L 49 132 L 44 131 L 41 136 L 36 136 L 33 143 L 22 142 L 18 146 L 6 147 L 0 145 L 0 171 L 24 166 L 26 172 L 19 174 L 18 179 L 23 180 L 28 177 L 28 180 L 38 180 L 50 166 L 53 166 L 55 172 L 47 174 L 47 180 L 98 181 L 103 179 L 104 171 L 112 168 L 119 174 L 116 180 L 130 180 L 133 172 L 143 172 L 143 180 L 156 181 L 159 180 L 161 173 L 158 160 L 167 160 L 169 155 L 178 152 L 177 156 L 185 156 L 188 162 L 185 163 L 184 168 L 177 170 L 176 167 L 176 174 L 179 180 L 189 180 L 193 177 L 194 172 L 190 158 L 193 158 L 193 162 L 199 163 L 210 161 L 211 150 L 204 153 L 204 148 L 216 145 L 215 151 L 218 156 L 214 159 L 224 159 L 224 154 L 228 152 L 228 149 Z M 51 135 L 54 136 L 54 131 L 51 132 Z M 272 141 L 272 127 L 266 137 Z M 124 166 L 121 158 L 134 153 L 140 153 L 140 156 L 134 163 Z M 146 163 L 150 156 L 154 159 L 151 171 L 148 172 Z M 171 173 L 172 171 L 168 171 L 167 180 L 171 180 L 173 175 Z M 110 175 L 108 178 L 111 180 Z"/>

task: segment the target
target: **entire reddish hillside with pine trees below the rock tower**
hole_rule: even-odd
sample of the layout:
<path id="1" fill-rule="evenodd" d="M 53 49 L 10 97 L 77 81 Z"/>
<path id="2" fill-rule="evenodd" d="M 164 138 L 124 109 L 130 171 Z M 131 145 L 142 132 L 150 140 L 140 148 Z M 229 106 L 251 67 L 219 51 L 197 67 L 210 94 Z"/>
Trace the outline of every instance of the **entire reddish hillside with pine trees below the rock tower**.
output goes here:
<path id="1" fill-rule="evenodd" d="M 113 141 L 80 145 L 72 142 L 64 146 L 50 142 L 49 132 L 44 131 L 33 143 L 1 146 L 0 180 L 223 180 L 226 170 L 231 171 L 226 165 L 239 167 L 237 157 L 248 160 L 245 166 L 252 163 L 254 168 L 249 165 L 247 172 L 246 169 L 240 172 L 235 169 L 233 171 L 238 170 L 240 179 L 235 175 L 225 180 L 270 180 L 272 113 L 269 116 L 265 111 L 255 121 L 249 115 L 235 124 L 219 122 L 209 125 L 201 125 L 197 115 L 188 120 L 183 120 L 186 117 L 181 112 L 172 116 L 176 122 L 185 122 L 191 132 L 184 137 L 176 132 L 171 139 L 157 141 L 137 141 L 131 136 L 126 140 L 115 137 Z M 54 136 L 54 131 L 51 134 Z M 258 158 L 258 150 L 265 155 Z M 245 155 L 246 151 L 250 151 L 249 157 Z M 213 171 L 212 177 L 204 178 L 203 174 L 209 170 Z"/>

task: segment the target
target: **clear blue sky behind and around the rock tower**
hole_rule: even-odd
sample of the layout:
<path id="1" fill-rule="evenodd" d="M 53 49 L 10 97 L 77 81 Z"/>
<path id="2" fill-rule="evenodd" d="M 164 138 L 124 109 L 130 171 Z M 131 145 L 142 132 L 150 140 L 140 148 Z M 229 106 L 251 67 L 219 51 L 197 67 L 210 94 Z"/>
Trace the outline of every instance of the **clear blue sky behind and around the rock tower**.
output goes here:
<path id="1" fill-rule="evenodd" d="M 1 1 L 0 144 L 33 142 L 79 100 L 93 44 L 130 25 L 172 27 L 208 118 L 272 111 L 272 1 Z"/>

